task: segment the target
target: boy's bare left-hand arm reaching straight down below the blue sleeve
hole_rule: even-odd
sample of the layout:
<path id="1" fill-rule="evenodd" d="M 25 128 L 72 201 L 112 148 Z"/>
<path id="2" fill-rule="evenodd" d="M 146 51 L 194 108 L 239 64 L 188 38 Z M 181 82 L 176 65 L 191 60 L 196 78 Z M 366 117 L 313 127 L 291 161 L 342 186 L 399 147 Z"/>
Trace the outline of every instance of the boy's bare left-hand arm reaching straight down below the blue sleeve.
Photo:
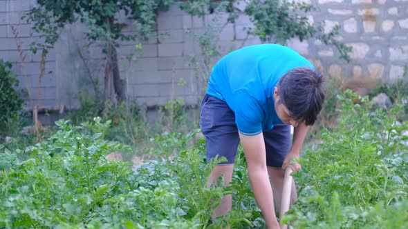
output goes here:
<path id="1" fill-rule="evenodd" d="M 261 208 L 262 215 L 265 218 L 266 226 L 269 229 L 279 228 L 279 223 L 275 216 L 272 187 L 270 186 L 268 170 L 266 168 L 263 135 L 260 133 L 259 135 L 247 136 L 239 133 L 239 138 L 241 139 L 248 165 L 251 187 L 259 208 Z"/>

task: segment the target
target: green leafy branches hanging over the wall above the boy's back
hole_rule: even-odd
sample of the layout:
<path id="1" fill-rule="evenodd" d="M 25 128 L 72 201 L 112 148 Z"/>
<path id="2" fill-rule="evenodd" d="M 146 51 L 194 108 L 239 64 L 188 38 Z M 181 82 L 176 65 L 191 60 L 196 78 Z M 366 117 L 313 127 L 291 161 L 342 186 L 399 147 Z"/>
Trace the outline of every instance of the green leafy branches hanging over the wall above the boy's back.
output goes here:
<path id="1" fill-rule="evenodd" d="M 228 14 L 228 22 L 233 23 L 240 12 L 234 8 L 234 4 L 239 3 L 237 0 L 226 1 L 208 1 L 195 0 L 183 1 L 179 7 L 191 15 L 204 17 L 208 12 L 219 15 L 220 13 Z M 310 24 L 307 14 L 317 10 L 315 6 L 306 2 L 298 1 L 247 1 L 247 6 L 243 12 L 248 15 L 254 24 L 253 27 L 246 27 L 245 30 L 249 34 L 259 37 L 261 41 L 272 43 L 280 43 L 286 45 L 286 42 L 292 38 L 299 38 L 300 41 L 315 38 L 321 40 L 324 44 L 334 46 L 340 53 L 340 58 L 346 61 L 351 61 L 349 53 L 351 47 L 345 46 L 335 36 L 339 34 L 340 26 L 335 26 L 333 30 L 324 33 L 324 23 Z M 219 10 L 219 9 L 223 10 Z M 217 10 L 218 9 L 218 10 Z M 214 25 L 212 25 L 214 26 Z M 207 26 L 206 29 L 214 30 L 214 28 L 223 28 L 223 26 L 215 25 L 214 28 Z M 210 27 L 210 28 L 209 28 Z M 216 40 L 219 37 L 219 32 L 212 39 Z M 211 42 L 205 39 L 205 36 L 200 36 L 198 39 L 201 48 L 204 50 L 214 50 L 215 46 L 208 48 Z M 214 43 L 214 41 L 212 41 Z M 216 52 L 214 52 L 215 54 Z"/>

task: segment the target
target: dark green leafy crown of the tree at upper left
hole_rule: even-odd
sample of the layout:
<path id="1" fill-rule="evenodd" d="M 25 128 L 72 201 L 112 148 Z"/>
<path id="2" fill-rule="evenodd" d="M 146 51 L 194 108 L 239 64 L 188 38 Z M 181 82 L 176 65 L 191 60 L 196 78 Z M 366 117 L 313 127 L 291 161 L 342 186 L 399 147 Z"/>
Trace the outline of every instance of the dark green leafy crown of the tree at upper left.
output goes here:
<path id="1" fill-rule="evenodd" d="M 29 23 L 33 23 L 33 29 L 44 37 L 44 43 L 33 43 L 32 50 L 47 52 L 57 41 L 59 29 L 76 21 L 81 21 L 89 28 L 86 37 L 90 41 L 105 44 L 116 43 L 118 40 L 146 39 L 154 30 L 156 10 L 166 8 L 170 3 L 172 1 L 169 0 L 39 0 L 26 17 Z M 137 34 L 122 32 L 126 24 L 115 18 L 122 11 L 126 17 L 133 19 Z"/>

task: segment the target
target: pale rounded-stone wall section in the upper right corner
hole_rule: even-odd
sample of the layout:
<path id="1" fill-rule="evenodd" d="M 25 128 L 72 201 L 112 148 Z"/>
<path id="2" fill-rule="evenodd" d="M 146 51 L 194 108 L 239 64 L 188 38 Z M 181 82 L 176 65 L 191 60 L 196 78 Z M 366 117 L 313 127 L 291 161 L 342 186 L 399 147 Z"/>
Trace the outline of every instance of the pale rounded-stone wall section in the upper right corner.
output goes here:
<path id="1" fill-rule="evenodd" d="M 322 61 L 330 74 L 392 81 L 408 63 L 407 0 L 313 0 L 327 29 L 340 25 L 340 41 L 353 47 L 351 63 L 338 61 L 332 48 L 309 41 L 309 58 Z"/>

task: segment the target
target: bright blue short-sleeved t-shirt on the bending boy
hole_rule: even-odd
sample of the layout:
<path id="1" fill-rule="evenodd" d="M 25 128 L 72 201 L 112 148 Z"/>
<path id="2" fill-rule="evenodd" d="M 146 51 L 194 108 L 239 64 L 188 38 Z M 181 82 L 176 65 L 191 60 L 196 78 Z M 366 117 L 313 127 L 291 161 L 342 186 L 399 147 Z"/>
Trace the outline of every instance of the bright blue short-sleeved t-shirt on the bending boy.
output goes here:
<path id="1" fill-rule="evenodd" d="M 273 91 L 286 72 L 315 69 L 295 50 L 276 44 L 247 46 L 221 58 L 208 82 L 207 94 L 225 101 L 235 113 L 243 135 L 258 135 L 282 123 L 275 111 Z"/>

